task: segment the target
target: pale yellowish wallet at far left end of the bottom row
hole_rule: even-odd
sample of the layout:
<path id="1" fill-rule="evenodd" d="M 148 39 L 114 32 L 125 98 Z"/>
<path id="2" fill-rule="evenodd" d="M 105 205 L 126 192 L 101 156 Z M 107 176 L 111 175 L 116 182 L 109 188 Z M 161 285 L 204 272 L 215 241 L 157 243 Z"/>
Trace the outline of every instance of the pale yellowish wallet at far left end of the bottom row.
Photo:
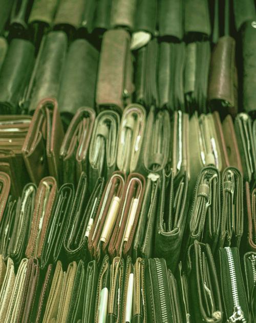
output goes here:
<path id="1" fill-rule="evenodd" d="M 6 265 L 6 273 L 0 290 L 0 319 L 6 322 L 7 310 L 11 302 L 11 295 L 15 283 L 15 271 L 12 259 L 9 257 Z"/>

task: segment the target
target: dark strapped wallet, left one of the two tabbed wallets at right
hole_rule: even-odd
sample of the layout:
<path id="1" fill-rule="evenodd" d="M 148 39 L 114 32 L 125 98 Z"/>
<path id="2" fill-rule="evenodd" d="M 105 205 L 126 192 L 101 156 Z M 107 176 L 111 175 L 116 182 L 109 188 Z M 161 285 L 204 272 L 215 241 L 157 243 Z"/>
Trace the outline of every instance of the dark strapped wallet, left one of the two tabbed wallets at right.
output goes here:
<path id="1" fill-rule="evenodd" d="M 221 178 L 217 168 L 203 167 L 194 190 L 189 210 L 186 250 L 193 241 L 210 245 L 212 253 L 218 247 L 221 227 Z"/>

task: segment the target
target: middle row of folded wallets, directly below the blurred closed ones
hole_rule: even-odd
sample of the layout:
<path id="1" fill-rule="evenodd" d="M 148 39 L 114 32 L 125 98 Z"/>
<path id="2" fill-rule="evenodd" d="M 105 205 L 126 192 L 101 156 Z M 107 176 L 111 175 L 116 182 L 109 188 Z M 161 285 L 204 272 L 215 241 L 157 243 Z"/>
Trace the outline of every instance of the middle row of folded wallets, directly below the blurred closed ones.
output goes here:
<path id="1" fill-rule="evenodd" d="M 176 177 L 186 172 L 193 187 L 207 165 L 221 173 L 236 167 L 251 189 L 256 183 L 256 121 L 245 113 L 221 122 L 218 112 L 189 119 L 180 110 L 170 115 L 151 107 L 146 115 L 136 103 L 126 106 L 121 118 L 113 110 L 96 116 L 81 107 L 64 133 L 56 100 L 45 99 L 33 117 L 1 116 L 0 135 L 0 170 L 10 176 L 14 196 L 29 181 L 38 185 L 49 175 L 58 185 L 77 187 L 82 171 L 91 190 L 99 177 L 107 181 L 115 170 L 145 177 L 164 169 Z"/>

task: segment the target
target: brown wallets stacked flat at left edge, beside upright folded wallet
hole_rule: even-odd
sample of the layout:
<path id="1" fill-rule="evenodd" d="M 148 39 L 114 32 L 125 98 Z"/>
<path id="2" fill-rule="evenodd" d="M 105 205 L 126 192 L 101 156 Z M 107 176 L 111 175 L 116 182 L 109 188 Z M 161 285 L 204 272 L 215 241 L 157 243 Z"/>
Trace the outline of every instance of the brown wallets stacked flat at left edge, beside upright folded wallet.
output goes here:
<path id="1" fill-rule="evenodd" d="M 11 193 L 18 197 L 28 182 L 22 147 L 31 123 L 31 116 L 4 115 L 0 117 L 0 170 L 11 179 Z M 16 178 L 19 180 L 17 181 Z"/>

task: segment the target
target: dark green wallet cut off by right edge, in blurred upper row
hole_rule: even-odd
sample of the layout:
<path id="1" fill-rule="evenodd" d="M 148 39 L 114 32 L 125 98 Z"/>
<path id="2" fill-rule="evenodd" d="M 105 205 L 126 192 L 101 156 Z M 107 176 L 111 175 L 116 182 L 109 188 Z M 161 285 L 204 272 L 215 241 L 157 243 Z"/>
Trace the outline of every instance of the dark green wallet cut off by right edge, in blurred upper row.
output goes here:
<path id="1" fill-rule="evenodd" d="M 255 13 L 255 10 L 254 10 Z M 246 21 L 241 29 L 242 38 L 242 61 L 243 61 L 243 80 L 242 80 L 242 96 L 243 109 L 245 112 L 255 117 L 255 84 L 256 84 L 256 63 L 255 63 L 255 18 Z"/>

